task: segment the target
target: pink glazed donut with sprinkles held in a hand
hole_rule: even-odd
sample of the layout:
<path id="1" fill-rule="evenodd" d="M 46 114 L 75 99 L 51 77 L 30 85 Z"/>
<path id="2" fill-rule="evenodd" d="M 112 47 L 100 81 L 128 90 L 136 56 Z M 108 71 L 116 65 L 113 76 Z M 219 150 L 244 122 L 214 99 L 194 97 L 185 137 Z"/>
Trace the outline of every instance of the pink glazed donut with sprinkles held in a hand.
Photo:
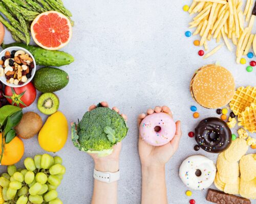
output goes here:
<path id="1" fill-rule="evenodd" d="M 167 113 L 153 113 L 146 116 L 140 124 L 140 136 L 153 146 L 162 146 L 173 139 L 176 124 Z"/>

